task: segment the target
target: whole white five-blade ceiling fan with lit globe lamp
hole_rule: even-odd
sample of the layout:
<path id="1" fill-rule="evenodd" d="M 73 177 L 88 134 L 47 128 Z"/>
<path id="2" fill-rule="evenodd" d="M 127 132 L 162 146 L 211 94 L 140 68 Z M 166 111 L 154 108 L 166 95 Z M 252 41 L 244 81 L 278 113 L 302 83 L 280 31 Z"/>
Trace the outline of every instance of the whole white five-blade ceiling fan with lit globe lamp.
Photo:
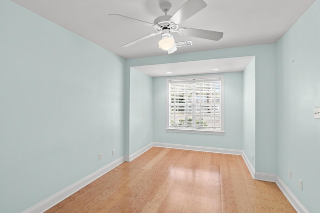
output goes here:
<path id="1" fill-rule="evenodd" d="M 145 35 L 129 43 L 122 45 L 121 47 L 128 47 L 135 43 L 138 43 L 144 39 L 149 37 L 153 37 L 155 35 L 161 34 L 161 40 L 159 40 L 159 48 L 163 50 L 167 50 L 168 54 L 176 51 L 176 45 L 173 36 L 171 35 L 172 32 L 178 33 L 180 35 L 188 35 L 192 37 L 198 38 L 205 38 L 217 41 L 223 36 L 223 32 L 216 32 L 204 29 L 193 29 L 193 28 L 186 28 L 181 27 L 179 28 L 179 24 L 201 9 L 206 7 L 206 3 L 203 0 L 187 0 L 172 16 L 167 15 L 167 12 L 171 9 L 171 4 L 169 2 L 164 2 L 160 4 L 161 10 L 164 12 L 164 15 L 161 15 L 154 19 L 153 23 L 139 20 L 136 18 L 127 17 L 120 14 L 109 14 L 113 16 L 117 16 L 120 18 L 124 18 L 127 20 L 139 22 L 141 24 L 147 25 L 149 27 L 153 27 L 156 32 Z"/>

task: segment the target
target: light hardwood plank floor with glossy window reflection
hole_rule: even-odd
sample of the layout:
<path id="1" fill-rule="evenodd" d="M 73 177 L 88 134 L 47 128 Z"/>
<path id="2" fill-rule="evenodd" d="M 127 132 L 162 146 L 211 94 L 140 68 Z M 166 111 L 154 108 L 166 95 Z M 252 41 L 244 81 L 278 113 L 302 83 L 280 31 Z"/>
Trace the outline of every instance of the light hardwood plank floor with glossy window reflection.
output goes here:
<path id="1" fill-rule="evenodd" d="M 153 147 L 46 213 L 295 213 L 241 156 Z"/>

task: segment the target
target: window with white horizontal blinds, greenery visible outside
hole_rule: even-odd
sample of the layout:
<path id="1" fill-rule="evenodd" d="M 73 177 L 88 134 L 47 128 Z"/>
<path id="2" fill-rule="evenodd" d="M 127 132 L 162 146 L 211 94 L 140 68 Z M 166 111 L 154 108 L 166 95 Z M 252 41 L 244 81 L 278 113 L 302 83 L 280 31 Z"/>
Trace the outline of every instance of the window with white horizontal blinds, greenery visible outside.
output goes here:
<path id="1" fill-rule="evenodd" d="M 223 75 L 167 78 L 167 131 L 223 134 Z"/>

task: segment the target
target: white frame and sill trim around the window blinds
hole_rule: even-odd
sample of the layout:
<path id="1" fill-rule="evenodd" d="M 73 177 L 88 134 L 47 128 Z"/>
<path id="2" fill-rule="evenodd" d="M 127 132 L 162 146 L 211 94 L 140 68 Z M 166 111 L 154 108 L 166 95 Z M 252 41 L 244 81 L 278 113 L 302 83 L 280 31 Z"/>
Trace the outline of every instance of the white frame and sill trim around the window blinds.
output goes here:
<path id="1" fill-rule="evenodd" d="M 203 129 L 187 129 L 187 128 L 170 128 L 169 127 L 169 110 L 171 95 L 169 90 L 169 82 L 172 80 L 190 80 L 190 79 L 209 79 L 209 78 L 219 78 L 220 79 L 220 131 L 216 130 L 203 130 Z M 183 132 L 183 133 L 198 133 L 198 134 L 214 134 L 223 135 L 224 134 L 224 76 L 219 75 L 203 75 L 203 76 L 187 76 L 187 77 L 170 77 L 166 78 L 166 131 L 167 132 Z"/>

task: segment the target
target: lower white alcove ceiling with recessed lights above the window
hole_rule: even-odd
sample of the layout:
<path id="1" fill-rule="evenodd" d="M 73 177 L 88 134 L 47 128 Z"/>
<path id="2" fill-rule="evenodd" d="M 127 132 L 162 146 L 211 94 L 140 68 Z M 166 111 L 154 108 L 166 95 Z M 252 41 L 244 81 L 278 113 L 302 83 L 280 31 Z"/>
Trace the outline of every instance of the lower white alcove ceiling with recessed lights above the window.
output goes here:
<path id="1" fill-rule="evenodd" d="M 254 56 L 221 58 L 200 61 L 187 61 L 179 63 L 155 64 L 132 67 L 152 77 L 194 75 L 221 72 L 240 72 L 250 63 Z M 219 70 L 213 71 L 213 68 Z M 166 72 L 172 72 L 167 74 Z"/>

